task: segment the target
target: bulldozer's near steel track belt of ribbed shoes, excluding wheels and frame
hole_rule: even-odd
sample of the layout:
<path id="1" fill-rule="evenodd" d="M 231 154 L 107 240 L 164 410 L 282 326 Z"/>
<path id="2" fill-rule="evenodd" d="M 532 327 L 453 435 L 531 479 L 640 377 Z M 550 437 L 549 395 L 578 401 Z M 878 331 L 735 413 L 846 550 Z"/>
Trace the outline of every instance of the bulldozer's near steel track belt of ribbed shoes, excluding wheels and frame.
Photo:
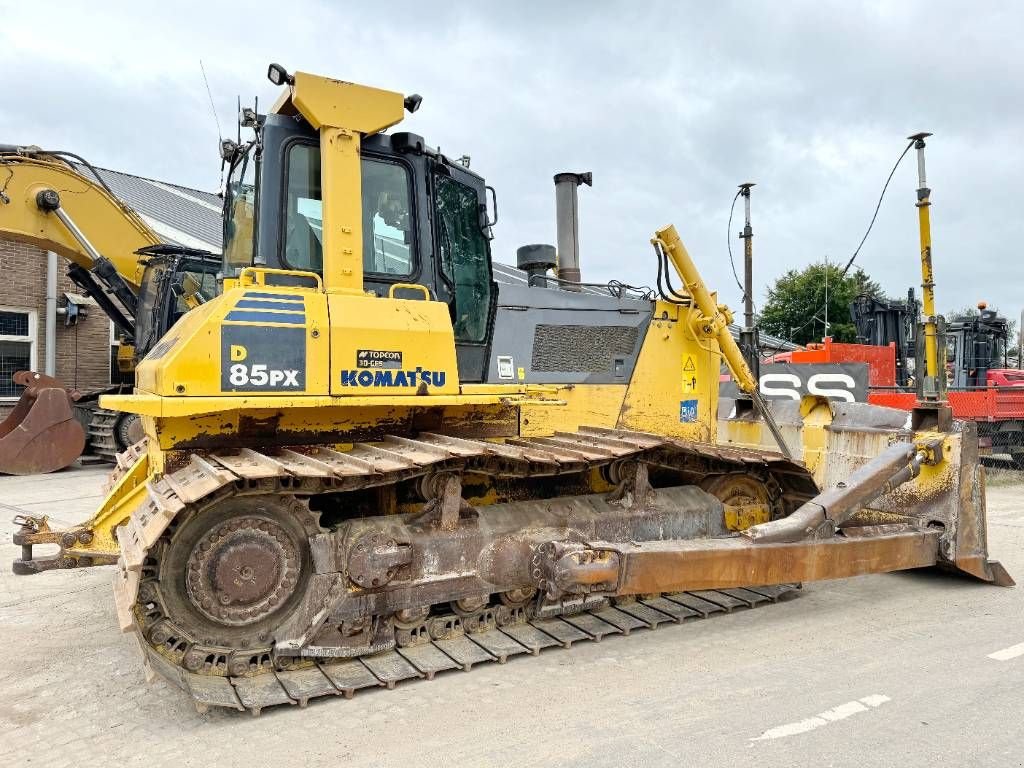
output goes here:
<path id="1" fill-rule="evenodd" d="M 174 521 L 228 499 L 266 495 L 302 499 L 380 487 L 439 470 L 551 476 L 623 460 L 671 466 L 692 476 L 694 482 L 716 473 L 764 471 L 782 479 L 791 492 L 814 493 L 806 470 L 777 454 L 598 428 L 503 443 L 421 434 L 417 439 L 387 436 L 372 444 L 355 443 L 347 452 L 311 445 L 272 455 L 248 449 L 193 454 L 186 466 L 151 480 L 146 501 L 118 528 L 121 557 L 115 597 L 119 622 L 123 631 L 137 637 L 147 668 L 188 692 L 201 710 L 216 706 L 258 714 L 270 706 L 305 705 L 323 695 L 350 696 L 364 687 L 391 687 L 400 680 L 430 678 L 449 669 L 469 670 L 474 664 L 504 663 L 509 656 L 536 654 L 556 645 L 568 647 L 577 641 L 629 634 L 633 629 L 754 607 L 792 591 L 752 587 L 621 600 L 614 605 L 600 599 L 594 604 L 565 606 L 558 615 L 494 606 L 474 621 L 453 616 L 455 629 L 443 639 L 423 633 L 420 639 L 401 642 L 399 636 L 392 649 L 341 662 L 305 656 L 283 662 L 273 657 L 270 645 L 248 644 L 232 654 L 229 648 L 204 644 L 170 620 L 162 596 L 157 577 L 160 552 L 174 532 Z M 299 507 L 305 505 L 300 502 Z M 318 530 L 308 513 L 303 524 L 309 535 Z M 236 659 L 237 655 L 245 657 Z"/>

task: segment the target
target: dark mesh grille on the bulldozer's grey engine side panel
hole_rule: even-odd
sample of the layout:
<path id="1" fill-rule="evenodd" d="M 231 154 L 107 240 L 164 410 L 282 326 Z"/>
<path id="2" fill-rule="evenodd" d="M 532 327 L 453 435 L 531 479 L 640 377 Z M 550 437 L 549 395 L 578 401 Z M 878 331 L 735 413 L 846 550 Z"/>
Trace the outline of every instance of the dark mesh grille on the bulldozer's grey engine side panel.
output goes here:
<path id="1" fill-rule="evenodd" d="M 534 332 L 534 371 L 608 373 L 615 357 L 632 356 L 634 326 L 538 326 Z"/>

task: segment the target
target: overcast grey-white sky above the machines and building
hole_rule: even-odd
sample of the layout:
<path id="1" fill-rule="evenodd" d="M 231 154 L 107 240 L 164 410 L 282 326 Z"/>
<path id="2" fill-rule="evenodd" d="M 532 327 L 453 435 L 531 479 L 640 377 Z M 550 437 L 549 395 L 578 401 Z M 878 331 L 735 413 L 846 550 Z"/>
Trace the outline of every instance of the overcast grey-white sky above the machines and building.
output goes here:
<path id="1" fill-rule="evenodd" d="M 417 92 L 402 128 L 498 188 L 495 255 L 554 242 L 552 175 L 581 191 L 587 280 L 652 284 L 673 222 L 737 312 L 729 203 L 756 181 L 758 300 L 791 267 L 845 261 L 905 136 L 931 131 L 940 310 L 1024 304 L 1024 6 L 1014 3 L 66 3 L 0 0 L 0 142 L 203 189 L 236 96 L 269 104 L 269 61 Z M 446 9 L 445 9 L 446 8 Z M 1015 53 L 1015 51 L 1018 51 Z M 912 153 L 858 263 L 919 286 Z M 733 230 L 741 226 L 741 212 Z M 735 231 L 733 231 L 733 236 Z M 733 252 L 738 255 L 738 241 Z M 919 286 L 920 290 L 920 286 Z"/>

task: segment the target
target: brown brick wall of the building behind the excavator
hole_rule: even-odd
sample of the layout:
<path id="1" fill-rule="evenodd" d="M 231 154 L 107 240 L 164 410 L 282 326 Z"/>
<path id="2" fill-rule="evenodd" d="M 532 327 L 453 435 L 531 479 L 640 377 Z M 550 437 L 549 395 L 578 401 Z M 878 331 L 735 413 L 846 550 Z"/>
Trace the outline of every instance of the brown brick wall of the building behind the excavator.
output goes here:
<path id="1" fill-rule="evenodd" d="M 57 261 L 57 305 L 63 293 L 81 293 L 65 274 L 67 262 Z M 0 306 L 36 312 L 36 369 L 46 360 L 46 252 L 0 239 Z M 56 377 L 65 386 L 81 391 L 98 389 L 110 382 L 110 322 L 98 306 L 88 308 L 88 316 L 75 326 L 65 326 L 56 317 Z M 11 403 L 0 401 L 0 419 Z"/>

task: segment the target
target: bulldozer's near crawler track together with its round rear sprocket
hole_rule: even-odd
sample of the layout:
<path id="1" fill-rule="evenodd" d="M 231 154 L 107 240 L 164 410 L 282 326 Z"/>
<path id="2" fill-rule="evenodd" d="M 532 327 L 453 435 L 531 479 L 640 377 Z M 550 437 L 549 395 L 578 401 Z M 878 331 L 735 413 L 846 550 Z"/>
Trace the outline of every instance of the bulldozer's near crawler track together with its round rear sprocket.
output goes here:
<path id="1" fill-rule="evenodd" d="M 372 636 L 361 645 L 317 646 L 308 653 L 303 645 L 296 646 L 297 653 L 282 652 L 282 635 L 292 637 L 297 623 L 323 614 L 332 598 L 354 590 L 372 600 L 379 592 L 368 574 L 373 566 L 354 559 L 345 571 L 355 587 L 338 574 L 332 583 L 311 572 L 305 543 L 315 549 L 317 539 L 329 535 L 311 499 L 437 473 L 532 482 L 623 462 L 675 467 L 694 480 L 760 474 L 785 485 L 780 497 L 787 505 L 814 493 L 806 470 L 777 454 L 597 428 L 506 442 L 420 434 L 355 443 L 346 452 L 309 445 L 273 454 L 249 449 L 193 454 L 186 466 L 152 480 L 146 501 L 118 528 L 119 622 L 137 637 L 147 669 L 185 690 L 201 710 L 216 706 L 258 714 L 266 707 L 351 696 L 365 687 L 392 687 L 445 670 L 468 671 L 475 664 L 755 607 L 793 591 L 793 586 L 752 585 L 613 601 L 581 596 L 554 604 L 525 590 L 479 600 L 440 597 L 423 612 L 370 611 L 343 622 L 338 632 L 353 627 L 351 634 Z M 545 503 L 551 506 L 551 500 Z M 254 563 L 262 567 L 254 569 Z M 226 591 L 218 592 L 210 582 L 225 570 L 231 571 L 220 582 Z M 263 577 L 254 571 L 270 575 L 260 583 Z"/>

